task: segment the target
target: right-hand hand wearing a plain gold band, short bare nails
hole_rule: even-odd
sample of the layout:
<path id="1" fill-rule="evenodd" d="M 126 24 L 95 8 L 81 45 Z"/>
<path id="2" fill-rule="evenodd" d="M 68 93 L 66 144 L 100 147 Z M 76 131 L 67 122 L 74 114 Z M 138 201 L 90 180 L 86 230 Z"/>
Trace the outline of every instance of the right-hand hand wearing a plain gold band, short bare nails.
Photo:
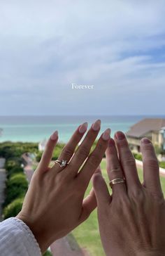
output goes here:
<path id="1" fill-rule="evenodd" d="M 124 178 L 126 183 L 114 184 L 110 196 L 101 172 L 93 177 L 101 241 L 108 256 L 165 255 L 164 196 L 157 157 L 148 139 L 142 139 L 141 152 L 143 184 L 122 132 L 115 134 L 115 141 L 110 139 L 106 162 L 109 179 Z"/>

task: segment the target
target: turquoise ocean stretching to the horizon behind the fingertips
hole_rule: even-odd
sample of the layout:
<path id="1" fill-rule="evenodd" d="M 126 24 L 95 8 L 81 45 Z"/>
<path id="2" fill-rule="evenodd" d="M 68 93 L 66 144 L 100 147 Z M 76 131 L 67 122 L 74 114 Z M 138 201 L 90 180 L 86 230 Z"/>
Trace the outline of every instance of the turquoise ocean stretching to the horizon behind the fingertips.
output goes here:
<path id="1" fill-rule="evenodd" d="M 145 117 L 148 116 L 1 116 L 0 129 L 3 131 L 0 142 L 39 142 L 48 139 L 52 132 L 58 130 L 59 141 L 65 143 L 78 125 L 89 122 L 90 126 L 98 118 L 101 119 L 101 132 L 110 128 L 113 136 L 117 130 L 127 132 L 133 124 Z"/>

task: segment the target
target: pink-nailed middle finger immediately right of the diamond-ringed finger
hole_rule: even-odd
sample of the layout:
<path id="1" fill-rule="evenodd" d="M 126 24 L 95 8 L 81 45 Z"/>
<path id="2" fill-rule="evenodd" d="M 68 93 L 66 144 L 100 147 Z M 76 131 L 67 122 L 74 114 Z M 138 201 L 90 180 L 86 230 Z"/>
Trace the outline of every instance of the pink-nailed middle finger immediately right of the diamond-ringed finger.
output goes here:
<path id="1" fill-rule="evenodd" d="M 85 139 L 82 141 L 82 143 L 78 147 L 78 150 L 76 151 L 75 155 L 73 155 L 73 158 L 69 163 L 69 167 L 72 169 L 72 173 L 74 176 L 77 175 L 78 169 L 80 168 L 82 163 L 86 160 L 87 156 L 89 155 L 90 149 L 92 148 L 92 145 L 96 139 L 96 136 L 99 134 L 100 125 L 101 125 L 100 120 L 96 120 L 96 122 L 92 124 L 92 127 L 87 132 Z"/>

